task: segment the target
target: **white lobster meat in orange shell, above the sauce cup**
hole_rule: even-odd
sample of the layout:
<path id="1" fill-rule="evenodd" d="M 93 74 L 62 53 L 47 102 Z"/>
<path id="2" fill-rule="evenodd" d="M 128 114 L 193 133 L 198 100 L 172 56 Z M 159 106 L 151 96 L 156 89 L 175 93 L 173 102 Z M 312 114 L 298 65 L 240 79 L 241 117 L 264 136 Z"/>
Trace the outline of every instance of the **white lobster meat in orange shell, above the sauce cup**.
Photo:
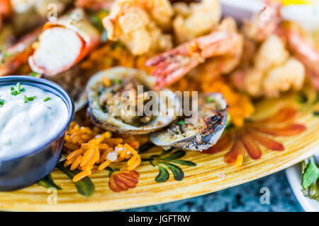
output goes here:
<path id="1" fill-rule="evenodd" d="M 29 57 L 31 69 L 45 76 L 67 71 L 86 57 L 100 42 L 100 33 L 86 19 L 82 9 L 47 22 L 35 52 Z"/>

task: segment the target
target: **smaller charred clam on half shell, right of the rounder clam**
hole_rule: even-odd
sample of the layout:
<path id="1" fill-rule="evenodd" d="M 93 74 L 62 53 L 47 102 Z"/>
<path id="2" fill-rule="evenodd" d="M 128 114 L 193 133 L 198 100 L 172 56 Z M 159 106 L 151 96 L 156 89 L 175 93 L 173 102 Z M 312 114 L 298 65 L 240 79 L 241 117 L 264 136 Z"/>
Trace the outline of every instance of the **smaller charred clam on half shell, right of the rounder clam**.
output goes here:
<path id="1" fill-rule="evenodd" d="M 228 106 L 220 93 L 198 95 L 198 119 L 194 124 L 185 124 L 183 118 L 168 129 L 151 133 L 150 140 L 161 147 L 185 150 L 206 150 L 214 145 L 223 133 Z"/>

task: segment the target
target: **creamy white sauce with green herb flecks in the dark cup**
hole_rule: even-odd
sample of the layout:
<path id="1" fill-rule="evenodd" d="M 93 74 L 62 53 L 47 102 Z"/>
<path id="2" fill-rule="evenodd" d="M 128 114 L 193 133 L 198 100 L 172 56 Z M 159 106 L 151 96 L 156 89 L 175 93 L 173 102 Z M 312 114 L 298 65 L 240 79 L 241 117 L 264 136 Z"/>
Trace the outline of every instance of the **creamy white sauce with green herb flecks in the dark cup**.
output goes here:
<path id="1" fill-rule="evenodd" d="M 32 152 L 67 124 L 67 106 L 60 97 L 31 85 L 19 86 L 0 86 L 0 160 Z"/>

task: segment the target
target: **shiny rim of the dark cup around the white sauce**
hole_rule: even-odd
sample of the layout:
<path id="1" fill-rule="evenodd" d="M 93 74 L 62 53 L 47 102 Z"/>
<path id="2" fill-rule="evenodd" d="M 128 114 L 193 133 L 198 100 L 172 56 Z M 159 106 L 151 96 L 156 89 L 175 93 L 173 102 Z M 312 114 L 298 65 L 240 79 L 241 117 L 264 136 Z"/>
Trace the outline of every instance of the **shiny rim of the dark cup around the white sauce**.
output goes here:
<path id="1" fill-rule="evenodd" d="M 71 95 L 69 95 L 69 93 L 67 93 L 67 90 L 62 88 L 62 86 L 57 85 L 57 83 L 49 81 L 45 78 L 35 78 L 32 76 L 4 76 L 4 77 L 0 77 L 0 86 L 1 85 L 11 85 L 11 84 L 15 85 L 18 82 L 20 82 L 21 85 L 23 85 L 23 83 L 25 85 L 34 85 L 35 87 L 40 88 L 42 90 L 43 90 L 43 88 L 39 87 L 39 85 L 45 86 L 48 88 L 48 90 L 46 90 L 46 91 L 50 92 L 50 93 L 52 93 L 50 91 L 50 88 L 52 90 L 55 90 L 59 95 L 57 95 L 57 93 L 52 93 L 52 94 L 57 95 L 58 97 L 60 97 L 63 100 L 63 102 L 65 102 L 65 105 L 66 105 L 67 111 L 68 111 L 68 120 L 67 120 L 67 123 L 65 124 L 65 126 L 63 126 L 62 129 L 60 129 L 57 132 L 57 134 L 50 139 L 50 141 L 47 141 L 46 143 L 43 143 L 42 145 L 39 145 L 38 147 L 31 149 L 30 151 L 28 151 L 25 154 L 13 156 L 13 157 L 4 157 L 0 160 L 0 162 L 7 162 L 7 161 L 11 161 L 11 160 L 16 160 L 16 159 L 21 158 L 21 157 L 26 157 L 28 155 L 36 155 L 37 153 L 40 153 L 41 151 L 43 151 L 45 149 L 45 147 L 47 147 L 47 145 L 50 145 L 50 143 L 57 140 L 57 138 L 59 138 L 61 136 L 61 134 L 67 130 L 67 128 L 69 127 L 69 124 L 71 123 L 71 121 L 74 117 L 74 101 L 73 101 Z"/>

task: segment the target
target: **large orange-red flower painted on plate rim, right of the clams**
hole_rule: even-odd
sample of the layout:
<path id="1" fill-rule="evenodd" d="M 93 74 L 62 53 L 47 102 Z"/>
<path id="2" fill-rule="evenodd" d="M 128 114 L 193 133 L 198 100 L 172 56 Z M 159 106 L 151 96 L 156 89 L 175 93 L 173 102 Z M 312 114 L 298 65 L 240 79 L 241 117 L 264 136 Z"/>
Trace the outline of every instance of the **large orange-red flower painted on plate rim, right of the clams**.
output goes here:
<path id="1" fill-rule="evenodd" d="M 228 153 L 225 154 L 224 161 L 240 167 L 245 153 L 248 153 L 254 160 L 262 157 L 259 145 L 268 150 L 282 151 L 285 149 L 284 145 L 268 136 L 295 136 L 305 131 L 306 126 L 293 123 L 292 119 L 296 117 L 296 113 L 293 107 L 282 107 L 279 112 L 267 119 L 252 121 L 241 128 L 230 129 L 224 133 L 216 145 L 203 153 L 218 153 L 226 150 L 233 143 Z"/>

